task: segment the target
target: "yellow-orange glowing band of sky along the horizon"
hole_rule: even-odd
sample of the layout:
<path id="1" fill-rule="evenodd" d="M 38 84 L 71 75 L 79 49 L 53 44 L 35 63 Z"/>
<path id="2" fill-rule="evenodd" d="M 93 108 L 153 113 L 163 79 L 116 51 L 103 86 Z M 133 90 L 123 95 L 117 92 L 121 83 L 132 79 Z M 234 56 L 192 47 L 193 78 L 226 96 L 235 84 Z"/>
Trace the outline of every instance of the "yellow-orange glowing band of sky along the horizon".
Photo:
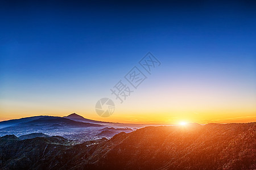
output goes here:
<path id="1" fill-rule="evenodd" d="M 138 100 L 131 100 L 121 106 L 117 105 L 112 116 L 104 118 L 98 116 L 95 112 L 94 103 L 90 105 L 82 105 L 81 107 L 81 105 L 75 104 L 74 106 L 64 104 L 56 104 L 56 106 L 53 106 L 1 101 L 0 121 L 40 115 L 63 117 L 75 112 L 80 116 L 91 120 L 126 124 L 172 125 L 179 124 L 181 121 L 196 122 L 198 124 L 256 122 L 256 108 L 253 104 L 247 104 L 244 106 L 242 104 L 233 104 L 233 107 L 229 107 L 229 105 L 226 105 L 225 107 L 222 107 L 221 105 L 219 107 L 213 107 L 213 105 L 211 105 L 207 108 L 206 103 L 201 105 L 198 103 L 184 103 L 183 105 L 175 105 L 175 103 L 172 103 L 171 105 L 170 103 L 154 104 L 155 100 L 151 101 L 149 97 L 148 100 L 142 100 L 139 104 L 138 102 Z M 134 105 L 136 107 L 131 108 L 130 105 Z"/>

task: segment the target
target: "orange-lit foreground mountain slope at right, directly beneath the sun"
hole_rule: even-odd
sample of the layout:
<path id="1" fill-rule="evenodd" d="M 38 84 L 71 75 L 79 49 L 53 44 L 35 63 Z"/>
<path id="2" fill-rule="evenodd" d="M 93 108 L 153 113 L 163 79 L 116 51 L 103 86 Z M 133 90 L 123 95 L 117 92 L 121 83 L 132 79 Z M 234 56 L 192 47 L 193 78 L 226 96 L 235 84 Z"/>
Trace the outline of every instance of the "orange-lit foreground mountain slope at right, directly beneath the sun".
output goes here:
<path id="1" fill-rule="evenodd" d="M 97 168 L 256 168 L 255 123 L 147 127 L 121 135 L 123 139 L 108 148 Z M 116 143 L 115 137 L 109 142 Z"/>

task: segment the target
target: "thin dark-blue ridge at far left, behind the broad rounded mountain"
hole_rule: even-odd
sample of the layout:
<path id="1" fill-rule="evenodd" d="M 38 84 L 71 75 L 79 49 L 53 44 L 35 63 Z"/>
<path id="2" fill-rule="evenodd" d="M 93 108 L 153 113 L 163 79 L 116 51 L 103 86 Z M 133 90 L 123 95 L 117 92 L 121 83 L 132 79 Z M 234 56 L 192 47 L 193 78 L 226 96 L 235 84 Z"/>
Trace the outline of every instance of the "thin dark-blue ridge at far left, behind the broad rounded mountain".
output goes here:
<path id="1" fill-rule="evenodd" d="M 39 118 L 43 118 L 43 117 L 46 117 L 46 116 L 33 116 L 33 117 L 25 117 L 25 118 L 20 118 L 20 119 L 2 121 L 2 122 L 0 122 L 0 129 L 1 128 L 6 128 L 6 127 L 9 127 L 9 126 L 14 126 L 14 125 L 26 123 L 26 122 L 33 121 L 33 120 L 36 120 L 36 119 L 39 119 Z"/>

